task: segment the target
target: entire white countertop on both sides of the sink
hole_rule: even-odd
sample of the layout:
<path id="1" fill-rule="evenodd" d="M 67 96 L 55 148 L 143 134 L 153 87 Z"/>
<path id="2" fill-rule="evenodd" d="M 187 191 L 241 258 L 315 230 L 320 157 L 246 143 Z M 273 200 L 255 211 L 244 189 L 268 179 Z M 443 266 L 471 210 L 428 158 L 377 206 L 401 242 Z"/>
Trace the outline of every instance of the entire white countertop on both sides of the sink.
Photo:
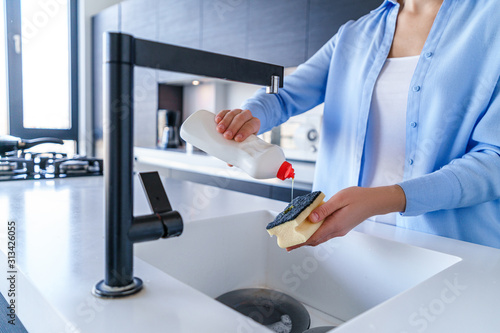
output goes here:
<path id="1" fill-rule="evenodd" d="M 285 206 L 190 182 L 163 182 L 185 223 Z M 28 331 L 236 332 L 245 317 L 137 257 L 135 275 L 143 279 L 143 291 L 117 300 L 92 296 L 104 274 L 103 192 L 102 177 L 0 183 L 0 267 L 7 272 L 7 221 L 15 221 L 16 306 Z M 135 214 L 149 213 L 140 185 L 135 192 Z M 371 222 L 357 231 L 462 260 L 336 332 L 498 332 L 500 250 Z M 5 296 L 6 279 L 0 281 Z"/>

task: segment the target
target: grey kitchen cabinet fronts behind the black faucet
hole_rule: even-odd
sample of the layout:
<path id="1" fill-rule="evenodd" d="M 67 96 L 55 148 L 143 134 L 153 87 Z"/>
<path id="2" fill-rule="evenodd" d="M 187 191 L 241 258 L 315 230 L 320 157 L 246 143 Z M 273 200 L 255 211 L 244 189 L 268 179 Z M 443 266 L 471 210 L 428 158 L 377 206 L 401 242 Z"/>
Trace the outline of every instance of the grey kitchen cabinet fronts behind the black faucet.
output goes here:
<path id="1" fill-rule="evenodd" d="M 128 0 L 93 17 L 93 117 L 95 153 L 102 156 L 102 34 L 138 38 L 294 67 L 307 60 L 338 28 L 382 0 Z M 136 146 L 155 145 L 158 82 L 178 73 L 135 69 Z"/>

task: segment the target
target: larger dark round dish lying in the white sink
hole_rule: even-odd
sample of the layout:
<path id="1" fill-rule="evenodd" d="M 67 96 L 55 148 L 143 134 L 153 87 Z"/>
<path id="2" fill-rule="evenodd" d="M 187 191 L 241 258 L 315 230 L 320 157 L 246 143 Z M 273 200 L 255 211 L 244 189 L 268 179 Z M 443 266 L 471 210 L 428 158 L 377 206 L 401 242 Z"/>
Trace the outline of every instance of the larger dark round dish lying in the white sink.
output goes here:
<path id="1" fill-rule="evenodd" d="M 239 313 L 277 333 L 302 333 L 311 318 L 296 299 L 279 291 L 263 288 L 233 290 L 216 298 Z"/>

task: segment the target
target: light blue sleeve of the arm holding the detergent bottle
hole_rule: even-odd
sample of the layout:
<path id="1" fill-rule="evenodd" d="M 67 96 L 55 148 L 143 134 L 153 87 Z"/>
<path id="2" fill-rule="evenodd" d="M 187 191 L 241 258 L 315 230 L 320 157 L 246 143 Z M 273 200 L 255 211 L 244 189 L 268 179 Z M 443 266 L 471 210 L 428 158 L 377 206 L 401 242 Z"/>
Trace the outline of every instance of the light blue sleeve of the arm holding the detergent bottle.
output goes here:
<path id="1" fill-rule="evenodd" d="M 242 109 L 250 110 L 254 117 L 259 118 L 259 134 L 324 102 L 331 57 L 339 33 L 287 76 L 278 94 L 266 94 L 262 88 L 243 103 Z"/>

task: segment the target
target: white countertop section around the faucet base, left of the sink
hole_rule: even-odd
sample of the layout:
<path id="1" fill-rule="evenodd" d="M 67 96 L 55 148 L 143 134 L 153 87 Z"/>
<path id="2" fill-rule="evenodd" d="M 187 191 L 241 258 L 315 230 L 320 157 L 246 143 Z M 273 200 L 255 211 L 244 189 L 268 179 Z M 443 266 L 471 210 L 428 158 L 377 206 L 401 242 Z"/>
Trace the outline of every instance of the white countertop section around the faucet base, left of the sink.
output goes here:
<path id="1" fill-rule="evenodd" d="M 135 185 L 135 215 L 149 214 L 143 190 Z M 16 304 L 30 333 L 230 332 L 241 323 L 234 311 L 139 258 L 134 272 L 144 281 L 143 291 L 119 300 L 91 294 L 104 277 L 103 177 L 11 181 L 0 188 L 1 248 L 6 251 L 7 221 L 15 221 L 22 272 Z M 190 182 L 168 180 L 165 188 L 185 223 L 284 204 Z M 0 267 L 7 272 L 4 252 Z M 7 281 L 0 281 L 6 295 Z"/>

